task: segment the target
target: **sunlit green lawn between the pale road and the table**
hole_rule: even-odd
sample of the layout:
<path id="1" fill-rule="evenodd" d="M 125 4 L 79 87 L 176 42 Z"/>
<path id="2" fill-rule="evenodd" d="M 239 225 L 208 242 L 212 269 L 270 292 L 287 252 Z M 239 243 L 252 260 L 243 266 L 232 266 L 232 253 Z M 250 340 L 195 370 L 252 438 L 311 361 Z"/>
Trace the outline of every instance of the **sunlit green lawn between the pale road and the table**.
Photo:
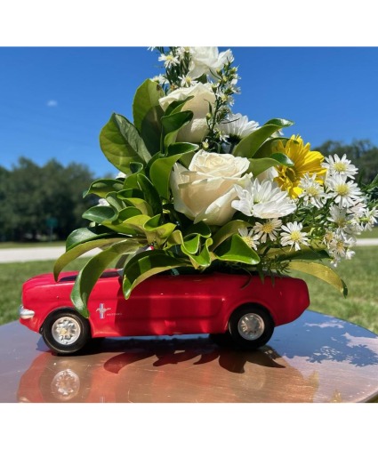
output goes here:
<path id="1" fill-rule="evenodd" d="M 378 246 L 356 248 L 353 261 L 344 261 L 337 269 L 349 287 L 347 299 L 332 286 L 301 274 L 309 285 L 310 309 L 340 317 L 378 333 L 378 295 L 376 271 Z M 80 269 L 86 260 L 73 261 L 68 269 Z M 0 264 L 0 325 L 18 319 L 21 286 L 29 277 L 51 272 L 53 261 Z"/>

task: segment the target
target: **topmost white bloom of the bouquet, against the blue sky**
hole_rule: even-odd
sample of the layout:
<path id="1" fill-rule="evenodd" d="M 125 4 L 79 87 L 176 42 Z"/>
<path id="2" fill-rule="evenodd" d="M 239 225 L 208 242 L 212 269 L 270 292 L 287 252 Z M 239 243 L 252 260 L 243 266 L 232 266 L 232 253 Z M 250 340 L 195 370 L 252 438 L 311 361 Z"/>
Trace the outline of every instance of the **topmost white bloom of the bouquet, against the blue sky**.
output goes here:
<path id="1" fill-rule="evenodd" d="M 202 75 L 212 75 L 218 68 L 223 68 L 227 61 L 232 61 L 231 50 L 219 53 L 215 46 L 194 46 L 190 51 L 190 66 L 188 76 L 199 78 Z"/>

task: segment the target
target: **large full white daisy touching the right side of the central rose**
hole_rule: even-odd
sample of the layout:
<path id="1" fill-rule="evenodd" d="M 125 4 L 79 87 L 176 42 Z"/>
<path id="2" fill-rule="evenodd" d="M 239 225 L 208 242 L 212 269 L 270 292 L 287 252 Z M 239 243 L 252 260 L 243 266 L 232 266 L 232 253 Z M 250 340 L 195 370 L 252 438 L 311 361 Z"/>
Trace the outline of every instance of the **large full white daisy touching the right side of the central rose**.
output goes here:
<path id="1" fill-rule="evenodd" d="M 296 205 L 288 197 L 286 191 L 282 191 L 270 181 L 248 181 L 245 188 L 235 185 L 237 197 L 231 205 L 246 216 L 254 216 L 262 220 L 279 218 L 293 213 Z"/>

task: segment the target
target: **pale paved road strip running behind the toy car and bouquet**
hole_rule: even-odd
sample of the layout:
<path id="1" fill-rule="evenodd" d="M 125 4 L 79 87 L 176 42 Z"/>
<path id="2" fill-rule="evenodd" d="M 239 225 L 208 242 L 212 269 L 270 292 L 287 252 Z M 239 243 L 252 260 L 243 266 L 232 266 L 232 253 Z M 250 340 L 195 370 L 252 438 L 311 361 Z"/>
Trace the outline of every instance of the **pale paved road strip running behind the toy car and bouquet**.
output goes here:
<path id="1" fill-rule="evenodd" d="M 378 238 L 361 238 L 358 246 L 378 245 Z M 97 250 L 100 251 L 100 250 Z M 23 262 L 23 261 L 44 261 L 56 260 L 60 254 L 65 252 L 64 246 L 53 247 L 32 247 L 32 248 L 4 248 L 0 249 L 0 263 L 4 262 Z M 96 250 L 88 252 L 92 255 Z"/>

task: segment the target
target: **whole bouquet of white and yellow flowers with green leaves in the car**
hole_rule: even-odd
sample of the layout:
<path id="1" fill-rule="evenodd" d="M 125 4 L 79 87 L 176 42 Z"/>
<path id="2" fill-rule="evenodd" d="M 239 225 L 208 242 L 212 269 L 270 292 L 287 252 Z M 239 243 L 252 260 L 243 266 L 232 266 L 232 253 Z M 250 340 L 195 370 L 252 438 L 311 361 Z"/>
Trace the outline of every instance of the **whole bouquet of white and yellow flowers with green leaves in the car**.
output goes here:
<path id="1" fill-rule="evenodd" d="M 74 230 L 54 275 L 101 248 L 80 270 L 71 299 L 84 316 L 102 272 L 116 263 L 128 298 L 136 285 L 168 269 L 237 269 L 261 276 L 306 272 L 347 288 L 334 267 L 350 260 L 356 236 L 377 222 L 378 180 L 355 182 L 347 157 L 324 157 L 294 123 L 264 125 L 233 113 L 239 92 L 230 50 L 156 47 L 165 73 L 133 99 L 133 123 L 113 114 L 100 135 L 119 171 L 85 195 L 99 204 Z"/>

